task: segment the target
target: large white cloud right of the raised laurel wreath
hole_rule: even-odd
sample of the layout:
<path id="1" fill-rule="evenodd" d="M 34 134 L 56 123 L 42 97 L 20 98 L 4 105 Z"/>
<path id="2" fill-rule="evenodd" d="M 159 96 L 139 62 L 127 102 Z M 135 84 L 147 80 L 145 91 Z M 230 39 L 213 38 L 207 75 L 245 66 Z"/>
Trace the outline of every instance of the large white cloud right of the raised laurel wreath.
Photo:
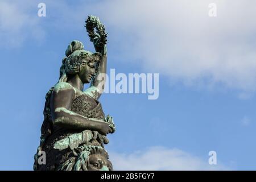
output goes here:
<path id="1" fill-rule="evenodd" d="M 208 15 L 212 2 L 216 18 Z M 125 59 L 189 86 L 255 90 L 256 2 L 112 0 L 100 6 L 101 19 L 119 32 L 111 41 Z"/>

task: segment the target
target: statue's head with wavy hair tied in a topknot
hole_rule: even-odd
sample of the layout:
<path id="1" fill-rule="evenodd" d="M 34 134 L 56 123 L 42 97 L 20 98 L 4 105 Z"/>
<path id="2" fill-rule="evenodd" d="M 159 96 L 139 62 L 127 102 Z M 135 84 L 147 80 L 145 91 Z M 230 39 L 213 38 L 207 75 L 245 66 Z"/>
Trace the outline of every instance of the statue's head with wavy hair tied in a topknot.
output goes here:
<path id="1" fill-rule="evenodd" d="M 101 54 L 84 50 L 81 42 L 73 40 L 65 51 L 63 65 L 60 68 L 60 82 L 67 81 L 68 76 L 78 75 L 81 81 L 89 83 L 96 72 L 96 64 L 100 61 Z"/>

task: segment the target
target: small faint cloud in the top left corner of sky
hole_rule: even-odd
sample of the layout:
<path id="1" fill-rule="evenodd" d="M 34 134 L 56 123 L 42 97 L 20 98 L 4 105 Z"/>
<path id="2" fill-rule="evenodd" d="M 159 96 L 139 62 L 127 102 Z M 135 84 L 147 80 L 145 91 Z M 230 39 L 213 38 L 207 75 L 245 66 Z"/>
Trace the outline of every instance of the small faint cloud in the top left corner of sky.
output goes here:
<path id="1" fill-rule="evenodd" d="M 34 10 L 34 14 L 30 13 L 31 10 Z M 0 46 L 18 47 L 27 38 L 42 40 L 44 31 L 40 27 L 37 11 L 36 3 L 33 4 L 31 1 L 1 1 Z"/>

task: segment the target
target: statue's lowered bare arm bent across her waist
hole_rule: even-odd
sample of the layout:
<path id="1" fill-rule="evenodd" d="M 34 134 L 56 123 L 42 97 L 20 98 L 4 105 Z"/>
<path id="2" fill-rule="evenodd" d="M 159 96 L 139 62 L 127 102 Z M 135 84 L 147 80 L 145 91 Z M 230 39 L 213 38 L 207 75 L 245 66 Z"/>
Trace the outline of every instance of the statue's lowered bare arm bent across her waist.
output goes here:
<path id="1" fill-rule="evenodd" d="M 61 82 L 55 86 L 51 96 L 53 125 L 68 129 L 96 130 L 102 135 L 112 132 L 109 124 L 93 118 L 86 118 L 71 111 L 75 90 L 71 85 Z"/>

